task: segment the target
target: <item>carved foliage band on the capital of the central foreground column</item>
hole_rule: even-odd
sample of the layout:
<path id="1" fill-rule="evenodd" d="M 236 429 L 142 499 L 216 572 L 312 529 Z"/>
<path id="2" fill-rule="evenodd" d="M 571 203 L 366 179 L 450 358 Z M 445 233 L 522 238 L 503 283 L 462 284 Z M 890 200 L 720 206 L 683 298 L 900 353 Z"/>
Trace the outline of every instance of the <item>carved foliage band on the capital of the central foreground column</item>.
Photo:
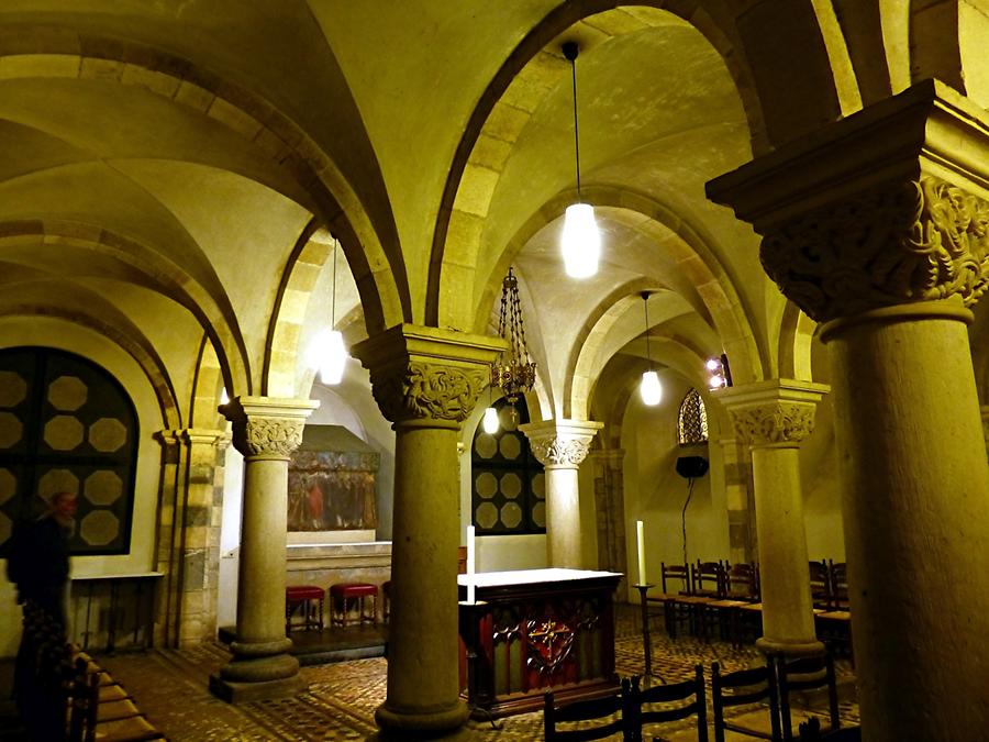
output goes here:
<path id="1" fill-rule="evenodd" d="M 374 378 L 374 395 L 392 422 L 431 419 L 463 422 L 488 381 L 488 369 L 410 362 Z"/>

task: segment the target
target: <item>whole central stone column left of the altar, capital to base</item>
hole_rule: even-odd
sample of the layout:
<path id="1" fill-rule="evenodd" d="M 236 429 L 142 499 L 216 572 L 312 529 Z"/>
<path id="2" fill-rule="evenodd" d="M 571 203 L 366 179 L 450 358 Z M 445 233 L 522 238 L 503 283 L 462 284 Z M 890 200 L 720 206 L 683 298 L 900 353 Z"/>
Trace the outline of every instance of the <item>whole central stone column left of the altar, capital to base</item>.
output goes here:
<path id="1" fill-rule="evenodd" d="M 491 337 L 403 324 L 352 350 L 370 370 L 375 399 L 396 433 L 388 697 L 375 713 L 380 739 L 464 734 L 457 441 L 502 347 Z"/>

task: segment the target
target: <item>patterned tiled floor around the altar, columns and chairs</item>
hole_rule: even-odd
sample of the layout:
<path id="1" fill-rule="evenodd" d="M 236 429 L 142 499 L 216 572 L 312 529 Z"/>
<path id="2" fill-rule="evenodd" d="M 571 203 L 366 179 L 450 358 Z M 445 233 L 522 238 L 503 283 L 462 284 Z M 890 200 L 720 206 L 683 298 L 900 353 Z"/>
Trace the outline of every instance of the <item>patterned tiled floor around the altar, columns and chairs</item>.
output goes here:
<path id="1" fill-rule="evenodd" d="M 641 635 L 634 622 L 635 611 L 621 607 L 615 663 L 620 675 L 643 672 Z M 687 678 L 693 665 L 702 663 L 707 674 L 713 661 L 725 672 L 757 661 L 754 649 L 734 650 L 729 644 L 704 644 L 691 639 L 668 640 L 653 636 L 654 672 L 665 680 Z M 146 655 L 102 657 L 100 662 L 135 697 L 152 722 L 170 740 L 360 740 L 376 730 L 375 709 L 385 700 L 386 661 L 380 657 L 314 665 L 302 668 L 309 693 L 280 701 L 230 706 L 213 698 L 207 678 L 227 658 L 219 645 L 187 651 L 156 651 Z M 838 669 L 847 680 L 847 663 Z M 846 683 L 845 687 L 851 684 Z M 749 711 L 755 723 L 768 724 L 760 709 Z M 844 722 L 858 721 L 858 707 L 842 704 Z M 542 712 L 508 717 L 492 729 L 471 721 L 477 740 L 542 740 Z M 690 722 L 651 729 L 670 742 L 697 739 Z M 712 738 L 713 739 L 713 738 Z M 727 739 L 751 739 L 730 735 Z"/>

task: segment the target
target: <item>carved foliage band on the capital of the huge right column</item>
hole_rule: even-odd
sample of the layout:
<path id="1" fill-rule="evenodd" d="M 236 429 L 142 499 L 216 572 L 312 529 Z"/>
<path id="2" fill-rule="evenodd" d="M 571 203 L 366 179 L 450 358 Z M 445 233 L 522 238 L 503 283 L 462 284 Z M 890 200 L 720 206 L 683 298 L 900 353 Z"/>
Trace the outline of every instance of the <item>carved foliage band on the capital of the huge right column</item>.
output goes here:
<path id="1" fill-rule="evenodd" d="M 934 177 L 893 181 L 767 232 L 763 267 L 820 322 L 989 283 L 989 202 Z"/>

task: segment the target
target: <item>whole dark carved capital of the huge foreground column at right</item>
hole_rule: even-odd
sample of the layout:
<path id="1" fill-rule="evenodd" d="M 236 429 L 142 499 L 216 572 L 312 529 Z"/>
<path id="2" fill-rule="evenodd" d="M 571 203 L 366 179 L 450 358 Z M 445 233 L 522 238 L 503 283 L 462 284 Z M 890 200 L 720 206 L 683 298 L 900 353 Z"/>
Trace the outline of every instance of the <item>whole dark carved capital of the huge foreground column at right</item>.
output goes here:
<path id="1" fill-rule="evenodd" d="M 967 307 L 989 284 L 989 114 L 936 80 L 707 190 L 763 235 L 766 273 L 819 322 L 948 298 Z"/>

